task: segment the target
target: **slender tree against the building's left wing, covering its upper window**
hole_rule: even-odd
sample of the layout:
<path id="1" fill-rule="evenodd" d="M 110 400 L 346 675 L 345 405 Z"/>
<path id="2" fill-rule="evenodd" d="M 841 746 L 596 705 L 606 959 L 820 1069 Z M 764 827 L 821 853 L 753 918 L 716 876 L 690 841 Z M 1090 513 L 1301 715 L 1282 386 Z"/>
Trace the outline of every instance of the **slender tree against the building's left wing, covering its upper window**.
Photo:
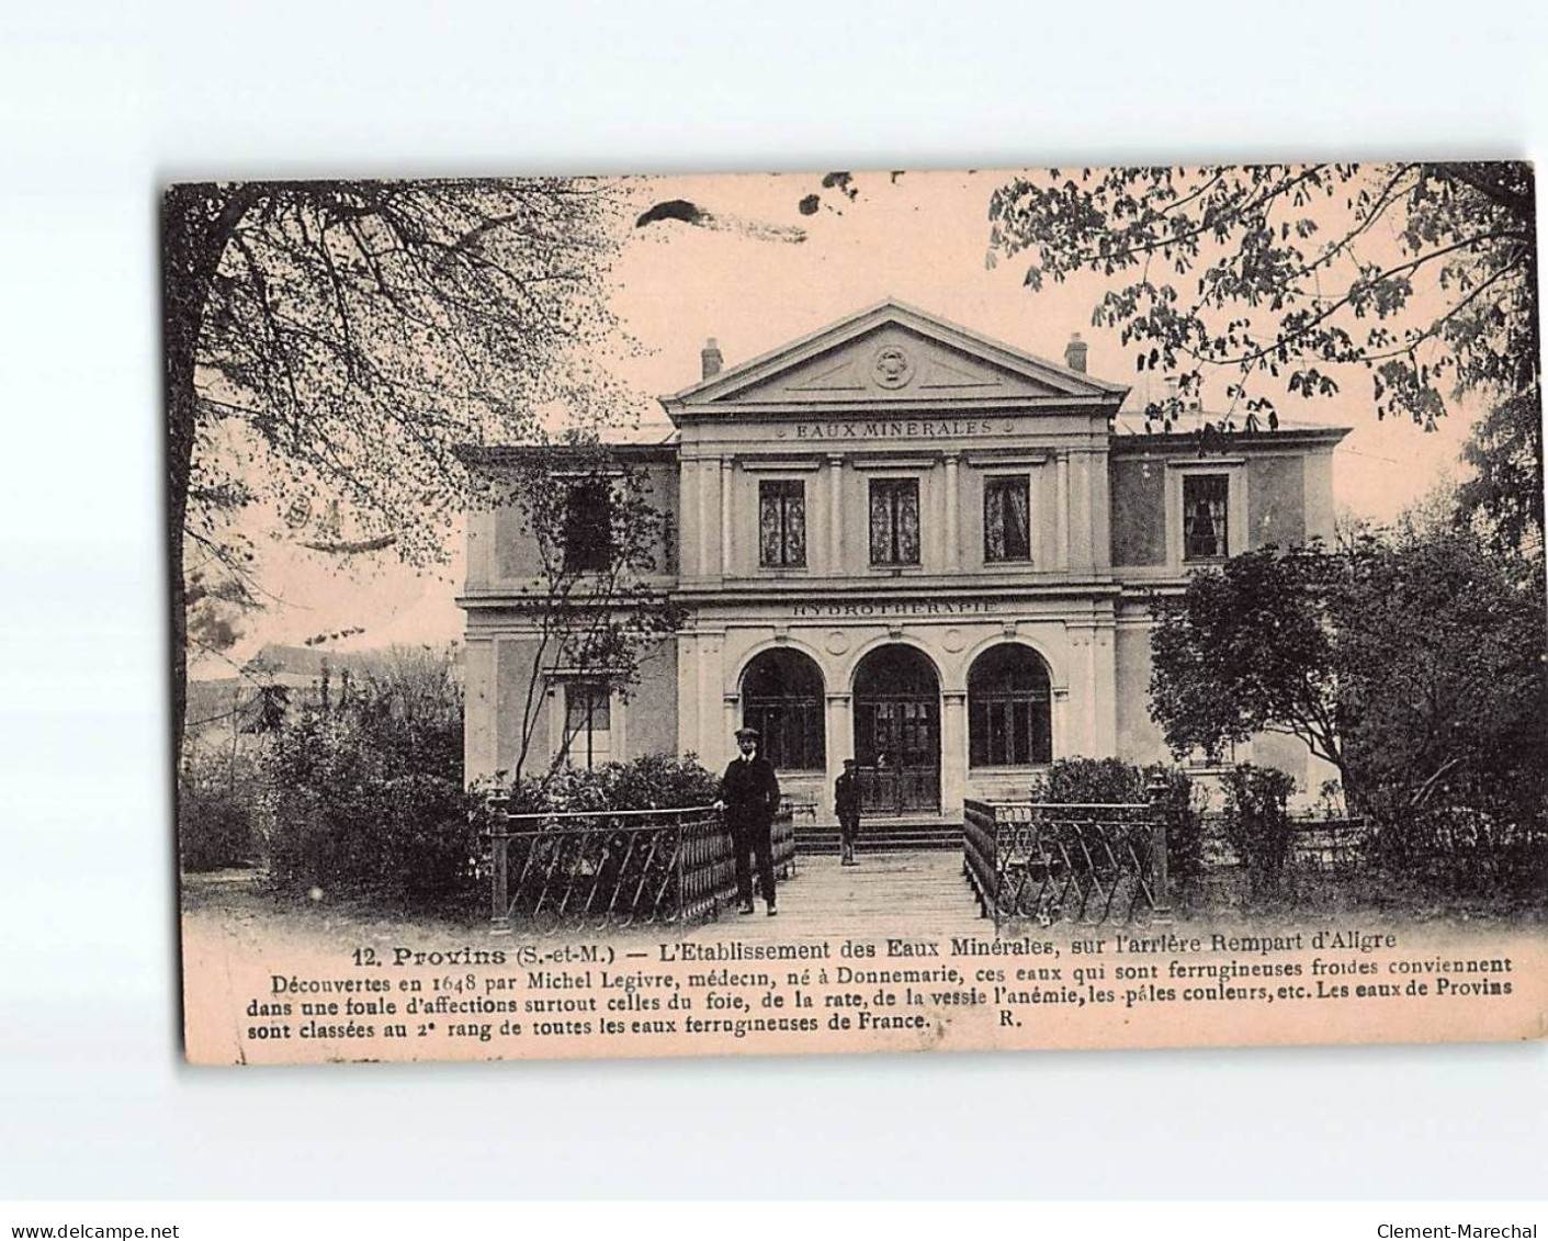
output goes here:
<path id="1" fill-rule="evenodd" d="M 512 785 L 528 774 L 545 687 L 563 681 L 587 690 L 587 716 L 571 720 L 567 712 L 560 744 L 546 757 L 548 778 L 580 730 L 590 737 L 598 701 L 615 693 L 627 701 L 641 661 L 681 624 L 681 607 L 652 580 L 666 569 L 672 523 L 652 503 L 647 470 L 632 464 L 627 450 L 585 435 L 469 460 L 483 466 L 481 503 L 514 509 L 537 556 L 517 605 L 536 648 L 515 763 L 506 772 Z"/>

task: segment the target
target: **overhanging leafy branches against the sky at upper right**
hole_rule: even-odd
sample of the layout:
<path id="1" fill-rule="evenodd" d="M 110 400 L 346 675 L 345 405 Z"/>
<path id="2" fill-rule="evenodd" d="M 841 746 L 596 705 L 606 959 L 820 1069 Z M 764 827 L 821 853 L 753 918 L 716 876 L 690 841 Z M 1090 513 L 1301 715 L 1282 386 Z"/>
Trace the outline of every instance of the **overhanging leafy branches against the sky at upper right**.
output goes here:
<path id="1" fill-rule="evenodd" d="M 1543 523 L 1534 210 L 1522 162 L 1050 170 L 994 193 L 989 258 L 1031 254 L 1034 289 L 1119 279 L 1091 322 L 1176 376 L 1146 412 L 1166 429 L 1211 371 L 1228 427 L 1274 427 L 1271 391 L 1328 396 L 1351 367 L 1378 416 L 1426 427 L 1477 393 L 1461 517 L 1520 546 Z"/>

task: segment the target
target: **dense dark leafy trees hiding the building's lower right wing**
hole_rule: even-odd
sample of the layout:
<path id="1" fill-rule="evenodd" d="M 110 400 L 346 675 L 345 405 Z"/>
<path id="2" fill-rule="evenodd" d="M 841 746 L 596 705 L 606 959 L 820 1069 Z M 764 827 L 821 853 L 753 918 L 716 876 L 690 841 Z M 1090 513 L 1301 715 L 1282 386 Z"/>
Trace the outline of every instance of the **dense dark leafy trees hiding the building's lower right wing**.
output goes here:
<path id="1" fill-rule="evenodd" d="M 1354 806 L 1542 812 L 1542 574 L 1471 531 L 1262 548 L 1159 599 L 1152 713 L 1178 754 L 1259 730 L 1333 763 Z"/>

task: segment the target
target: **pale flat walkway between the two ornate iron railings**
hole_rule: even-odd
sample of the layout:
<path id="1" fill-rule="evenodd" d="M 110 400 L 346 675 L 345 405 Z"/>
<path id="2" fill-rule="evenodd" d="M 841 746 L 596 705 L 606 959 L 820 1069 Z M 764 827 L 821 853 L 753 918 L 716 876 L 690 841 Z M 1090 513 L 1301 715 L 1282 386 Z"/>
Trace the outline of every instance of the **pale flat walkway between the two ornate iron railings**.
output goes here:
<path id="1" fill-rule="evenodd" d="M 879 939 L 889 935 L 994 933 L 963 879 L 961 853 L 862 854 L 859 865 L 837 857 L 799 859 L 796 877 L 779 885 L 779 916 L 728 910 L 689 935 L 717 939 Z"/>

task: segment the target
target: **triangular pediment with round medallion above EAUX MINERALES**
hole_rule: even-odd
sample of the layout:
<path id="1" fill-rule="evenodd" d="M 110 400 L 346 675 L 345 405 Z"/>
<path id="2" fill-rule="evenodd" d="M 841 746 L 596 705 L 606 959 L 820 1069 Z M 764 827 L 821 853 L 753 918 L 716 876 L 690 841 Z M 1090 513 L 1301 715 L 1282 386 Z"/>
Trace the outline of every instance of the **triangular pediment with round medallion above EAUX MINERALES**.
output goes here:
<path id="1" fill-rule="evenodd" d="M 955 323 L 884 302 L 663 398 L 669 412 L 847 405 L 1040 405 L 1122 399 L 1127 390 Z"/>

